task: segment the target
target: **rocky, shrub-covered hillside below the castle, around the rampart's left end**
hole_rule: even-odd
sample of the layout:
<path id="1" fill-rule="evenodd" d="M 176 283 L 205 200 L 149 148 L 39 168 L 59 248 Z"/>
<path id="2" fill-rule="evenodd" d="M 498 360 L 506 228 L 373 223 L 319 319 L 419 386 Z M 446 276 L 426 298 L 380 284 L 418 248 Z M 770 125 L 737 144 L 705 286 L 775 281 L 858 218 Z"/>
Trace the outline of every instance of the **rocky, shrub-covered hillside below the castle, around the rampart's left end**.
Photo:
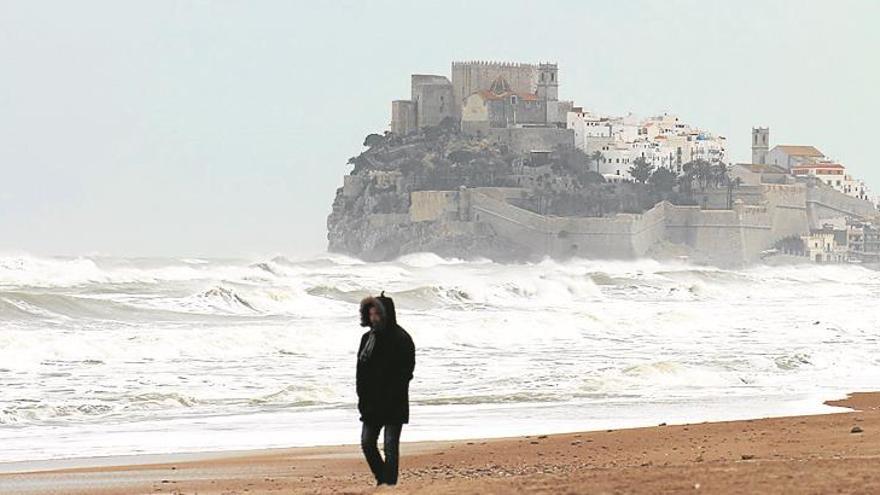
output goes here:
<path id="1" fill-rule="evenodd" d="M 516 153 L 461 133 L 452 122 L 404 136 L 370 134 L 336 191 L 327 219 L 329 251 L 387 260 L 429 251 L 447 257 L 522 260 L 541 253 L 465 215 L 414 219 L 412 194 L 498 188 L 510 202 L 542 215 L 606 216 L 641 212 L 656 202 L 643 184 L 606 183 L 579 150 Z"/>

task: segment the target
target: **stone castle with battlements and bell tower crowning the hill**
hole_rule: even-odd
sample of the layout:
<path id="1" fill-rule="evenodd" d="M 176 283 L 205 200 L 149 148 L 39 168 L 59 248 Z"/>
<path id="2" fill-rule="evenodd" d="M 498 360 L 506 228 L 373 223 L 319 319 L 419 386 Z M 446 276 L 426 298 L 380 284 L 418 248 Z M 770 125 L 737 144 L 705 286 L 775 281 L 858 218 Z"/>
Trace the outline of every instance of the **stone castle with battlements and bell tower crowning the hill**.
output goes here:
<path id="1" fill-rule="evenodd" d="M 559 101 L 553 63 L 453 62 L 446 76 L 413 74 L 409 100 L 391 102 L 391 132 L 408 134 L 446 119 L 466 134 L 518 151 L 574 146 L 566 129 L 572 103 Z"/>

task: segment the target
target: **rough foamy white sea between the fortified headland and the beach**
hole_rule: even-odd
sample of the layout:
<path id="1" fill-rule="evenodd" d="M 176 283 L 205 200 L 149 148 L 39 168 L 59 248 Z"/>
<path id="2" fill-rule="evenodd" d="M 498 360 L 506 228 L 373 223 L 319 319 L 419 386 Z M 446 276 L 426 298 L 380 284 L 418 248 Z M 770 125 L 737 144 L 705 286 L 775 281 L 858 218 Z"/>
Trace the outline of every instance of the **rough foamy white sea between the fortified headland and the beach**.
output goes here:
<path id="1" fill-rule="evenodd" d="M 880 389 L 880 272 L 0 257 L 0 462 L 355 443 L 358 301 L 417 346 L 404 440 L 832 411 Z"/>

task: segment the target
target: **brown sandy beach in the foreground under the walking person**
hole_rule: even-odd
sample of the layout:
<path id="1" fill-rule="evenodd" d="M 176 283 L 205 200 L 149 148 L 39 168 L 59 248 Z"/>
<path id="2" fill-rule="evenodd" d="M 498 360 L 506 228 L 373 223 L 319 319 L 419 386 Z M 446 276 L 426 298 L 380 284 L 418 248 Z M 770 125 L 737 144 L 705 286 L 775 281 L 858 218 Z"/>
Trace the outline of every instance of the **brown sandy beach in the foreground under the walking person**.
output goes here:
<path id="1" fill-rule="evenodd" d="M 350 445 L 25 463 L 0 492 L 880 493 L 880 393 L 828 404 L 853 411 L 404 443 L 394 488 L 373 487 Z"/>

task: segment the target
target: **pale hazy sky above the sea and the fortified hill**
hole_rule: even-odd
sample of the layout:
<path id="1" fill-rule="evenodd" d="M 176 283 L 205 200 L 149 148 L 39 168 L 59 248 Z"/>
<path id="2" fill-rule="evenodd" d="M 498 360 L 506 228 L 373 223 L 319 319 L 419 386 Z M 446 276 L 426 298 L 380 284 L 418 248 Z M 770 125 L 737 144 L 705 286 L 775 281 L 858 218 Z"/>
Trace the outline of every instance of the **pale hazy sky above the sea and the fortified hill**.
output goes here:
<path id="1" fill-rule="evenodd" d="M 451 60 L 812 144 L 880 192 L 880 2 L 0 0 L 0 252 L 303 256 L 363 137 Z"/>

